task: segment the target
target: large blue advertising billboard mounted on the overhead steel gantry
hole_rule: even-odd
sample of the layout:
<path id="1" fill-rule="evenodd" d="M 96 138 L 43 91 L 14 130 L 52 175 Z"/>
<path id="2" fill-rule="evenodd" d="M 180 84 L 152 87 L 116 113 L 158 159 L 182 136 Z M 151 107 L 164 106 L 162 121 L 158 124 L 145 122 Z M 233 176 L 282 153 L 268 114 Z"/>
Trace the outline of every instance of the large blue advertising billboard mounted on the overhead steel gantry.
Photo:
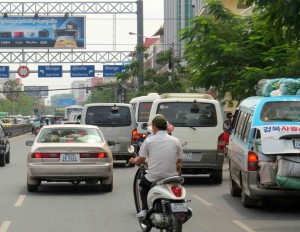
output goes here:
<path id="1" fill-rule="evenodd" d="M 0 48 L 85 48 L 85 17 L 1 17 Z"/>

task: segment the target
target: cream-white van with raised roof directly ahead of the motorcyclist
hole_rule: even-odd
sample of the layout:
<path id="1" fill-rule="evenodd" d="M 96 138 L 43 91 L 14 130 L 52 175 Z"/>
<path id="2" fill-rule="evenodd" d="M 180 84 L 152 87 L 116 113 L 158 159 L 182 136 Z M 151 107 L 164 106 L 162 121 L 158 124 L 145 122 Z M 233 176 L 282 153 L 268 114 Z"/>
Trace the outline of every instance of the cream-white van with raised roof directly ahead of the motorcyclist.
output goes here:
<path id="1" fill-rule="evenodd" d="M 224 161 L 223 112 L 209 94 L 165 93 L 153 101 L 149 122 L 164 115 L 182 144 L 183 174 L 209 174 L 222 182 Z"/>

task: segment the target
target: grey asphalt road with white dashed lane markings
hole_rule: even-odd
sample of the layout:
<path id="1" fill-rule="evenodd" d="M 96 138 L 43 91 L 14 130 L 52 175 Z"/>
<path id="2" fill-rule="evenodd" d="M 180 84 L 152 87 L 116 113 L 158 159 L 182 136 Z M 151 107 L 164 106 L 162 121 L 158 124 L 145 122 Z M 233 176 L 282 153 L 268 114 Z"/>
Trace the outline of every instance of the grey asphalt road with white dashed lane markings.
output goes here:
<path id="1" fill-rule="evenodd" d="M 12 138 L 11 163 L 0 168 L 0 232 L 139 232 L 135 218 L 132 181 L 136 168 L 114 167 L 114 190 L 99 192 L 93 186 L 67 183 L 42 184 L 37 193 L 26 189 L 26 140 Z M 224 164 L 221 185 L 205 177 L 185 177 L 193 217 L 184 225 L 188 232 L 296 232 L 300 205 L 269 202 L 246 209 L 240 198 L 229 194 L 228 169 Z M 152 231 L 158 231 L 152 229 Z"/>

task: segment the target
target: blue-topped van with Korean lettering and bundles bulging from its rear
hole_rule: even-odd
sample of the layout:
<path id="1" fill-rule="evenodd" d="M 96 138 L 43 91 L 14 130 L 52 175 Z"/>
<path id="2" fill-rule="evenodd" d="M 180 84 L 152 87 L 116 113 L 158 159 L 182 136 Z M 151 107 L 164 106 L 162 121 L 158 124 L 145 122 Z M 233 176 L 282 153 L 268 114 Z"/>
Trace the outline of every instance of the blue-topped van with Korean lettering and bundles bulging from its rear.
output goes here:
<path id="1" fill-rule="evenodd" d="M 241 195 L 245 207 L 300 197 L 300 96 L 247 98 L 229 131 L 232 196 Z"/>

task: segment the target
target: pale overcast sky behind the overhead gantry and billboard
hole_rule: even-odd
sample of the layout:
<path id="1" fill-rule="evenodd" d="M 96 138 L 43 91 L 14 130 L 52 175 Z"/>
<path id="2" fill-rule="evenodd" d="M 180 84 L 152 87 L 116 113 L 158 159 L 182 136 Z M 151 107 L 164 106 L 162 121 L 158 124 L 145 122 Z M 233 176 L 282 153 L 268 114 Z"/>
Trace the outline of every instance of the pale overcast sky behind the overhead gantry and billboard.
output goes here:
<path id="1" fill-rule="evenodd" d="M 123 0 L 103 0 L 95 2 L 122 2 Z M 3 0 L 2 2 L 25 2 Z M 41 2 L 31 0 L 30 2 Z M 57 2 L 44 0 L 42 2 Z M 68 2 L 68 1 L 60 1 Z M 94 2 L 90 1 L 75 1 L 75 2 Z M 124 2 L 135 2 L 135 0 L 128 0 Z M 143 0 L 144 3 L 144 36 L 151 37 L 163 24 L 163 0 Z M 74 15 L 78 16 L 78 15 Z M 113 51 L 113 16 L 110 14 L 89 14 L 86 15 L 86 49 L 76 49 L 76 51 Z M 136 15 L 117 14 L 116 15 L 116 51 L 132 51 L 136 46 L 136 35 L 129 35 L 129 32 L 137 31 Z M 26 50 L 25 50 L 26 51 Z M 45 50 L 43 50 L 45 51 Z M 70 51 L 70 50 L 68 50 Z M 11 64 L 10 70 L 17 70 L 20 64 Z M 22 64 L 26 65 L 26 64 Z M 27 64 L 29 69 L 37 70 L 38 65 L 50 65 L 46 63 L 41 64 Z M 60 65 L 53 63 L 53 65 Z M 69 69 L 70 65 L 80 64 L 66 64 L 63 69 Z M 84 64 L 83 64 L 84 65 Z M 86 64 L 92 65 L 92 64 Z M 102 64 L 96 65 L 95 69 L 101 70 Z M 96 76 L 101 76 L 97 74 Z M 18 75 L 16 75 L 19 78 Z M 70 78 L 69 73 L 64 73 L 62 78 L 38 78 L 37 73 L 32 73 L 26 78 L 22 78 L 24 86 L 45 86 L 49 89 L 60 89 L 71 87 L 73 80 L 82 80 L 84 78 Z M 69 91 L 49 92 L 49 95 L 54 93 L 68 93 Z"/>

